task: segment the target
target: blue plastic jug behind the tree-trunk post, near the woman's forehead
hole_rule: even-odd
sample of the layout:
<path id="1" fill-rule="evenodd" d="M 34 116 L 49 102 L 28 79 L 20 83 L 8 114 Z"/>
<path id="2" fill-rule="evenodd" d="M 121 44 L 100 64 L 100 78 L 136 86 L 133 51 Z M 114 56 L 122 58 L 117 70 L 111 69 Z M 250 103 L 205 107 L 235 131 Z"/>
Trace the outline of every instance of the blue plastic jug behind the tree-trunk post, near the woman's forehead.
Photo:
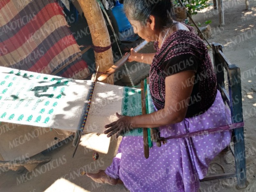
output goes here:
<path id="1" fill-rule="evenodd" d="M 114 17 L 116 18 L 119 32 L 123 32 L 132 27 L 124 14 L 123 6 L 123 4 L 120 4 L 119 1 L 116 0 L 116 6 L 112 8 L 112 12 Z"/>

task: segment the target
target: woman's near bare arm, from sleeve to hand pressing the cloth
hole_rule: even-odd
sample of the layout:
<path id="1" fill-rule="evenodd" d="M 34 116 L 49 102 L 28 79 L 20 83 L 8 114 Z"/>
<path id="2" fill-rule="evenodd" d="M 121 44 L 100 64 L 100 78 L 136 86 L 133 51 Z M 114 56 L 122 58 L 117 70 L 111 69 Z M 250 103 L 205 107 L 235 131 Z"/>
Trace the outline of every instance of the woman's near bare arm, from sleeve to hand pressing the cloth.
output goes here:
<path id="1" fill-rule="evenodd" d="M 154 113 L 140 116 L 120 116 L 119 119 L 105 126 L 108 137 L 138 127 L 155 128 L 162 125 L 174 124 L 185 118 L 190 95 L 194 85 L 195 72 L 183 71 L 165 78 L 165 105 Z"/>

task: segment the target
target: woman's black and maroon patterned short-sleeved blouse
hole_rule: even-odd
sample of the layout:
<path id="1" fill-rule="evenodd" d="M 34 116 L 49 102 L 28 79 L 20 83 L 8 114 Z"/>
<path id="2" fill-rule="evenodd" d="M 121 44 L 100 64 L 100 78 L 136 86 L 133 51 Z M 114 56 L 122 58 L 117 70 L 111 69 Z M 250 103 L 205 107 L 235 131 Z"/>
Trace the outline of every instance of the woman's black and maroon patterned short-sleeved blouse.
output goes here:
<path id="1" fill-rule="evenodd" d="M 177 30 L 158 48 L 150 67 L 149 87 L 153 103 L 157 109 L 164 108 L 165 77 L 181 71 L 194 71 L 195 81 L 188 104 L 186 118 L 204 113 L 211 107 L 217 94 L 217 80 L 208 50 L 203 41 L 190 31 Z M 188 86 L 189 80 L 182 84 Z"/>

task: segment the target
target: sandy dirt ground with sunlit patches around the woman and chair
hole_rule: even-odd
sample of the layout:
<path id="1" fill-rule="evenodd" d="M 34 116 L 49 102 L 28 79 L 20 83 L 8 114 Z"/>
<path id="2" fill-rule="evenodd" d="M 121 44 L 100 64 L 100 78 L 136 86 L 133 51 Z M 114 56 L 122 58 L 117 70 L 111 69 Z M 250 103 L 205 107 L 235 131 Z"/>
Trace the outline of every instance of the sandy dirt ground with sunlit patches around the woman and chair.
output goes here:
<path id="1" fill-rule="evenodd" d="M 212 20 L 212 38 L 209 42 L 224 45 L 223 52 L 232 64 L 241 68 L 242 97 L 244 111 L 247 188 L 238 189 L 236 179 L 214 180 L 201 183 L 201 192 L 211 191 L 256 191 L 256 1 L 250 0 L 251 10 L 245 10 L 244 0 L 224 0 L 225 26 L 219 27 L 218 10 L 213 6 L 198 13 L 193 19 L 196 23 Z M 212 51 L 209 51 L 212 57 Z M 99 146 L 91 146 L 86 143 L 85 136 L 82 138 L 76 155 L 72 158 L 74 147 L 72 141 L 64 143 L 47 153 L 52 161 L 47 165 L 36 167 L 33 172 L 14 171 L 0 172 L 1 192 L 41 192 L 41 191 L 75 191 L 75 192 L 113 192 L 128 191 L 123 185 L 111 186 L 93 182 L 80 172 L 96 172 L 106 169 L 115 156 L 119 140 L 111 140 L 109 147 L 101 142 L 97 135 L 93 140 L 99 141 Z M 102 145 L 102 146 L 100 146 Z M 97 149 L 101 150 L 97 161 L 92 159 L 92 154 Z M 222 152 L 212 163 L 211 173 L 223 173 L 235 171 L 234 159 L 230 153 Z"/>

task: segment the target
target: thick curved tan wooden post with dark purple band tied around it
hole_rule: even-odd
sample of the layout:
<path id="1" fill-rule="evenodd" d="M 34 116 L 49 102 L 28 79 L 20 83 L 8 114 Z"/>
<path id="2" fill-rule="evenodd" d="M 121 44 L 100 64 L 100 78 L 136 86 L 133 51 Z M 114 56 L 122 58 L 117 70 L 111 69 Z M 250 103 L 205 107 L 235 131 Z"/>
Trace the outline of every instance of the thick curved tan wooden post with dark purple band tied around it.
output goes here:
<path id="1" fill-rule="evenodd" d="M 84 16 L 87 20 L 91 36 L 92 43 L 94 46 L 107 47 L 111 44 L 108 29 L 101 12 L 99 4 L 96 0 L 77 0 L 80 4 Z M 99 73 L 97 75 L 100 76 L 104 71 L 108 70 L 113 64 L 113 54 L 112 49 L 108 49 L 105 52 L 95 54 L 95 63 L 96 68 L 99 66 Z M 109 76 L 103 83 L 114 84 L 113 75 Z"/>

